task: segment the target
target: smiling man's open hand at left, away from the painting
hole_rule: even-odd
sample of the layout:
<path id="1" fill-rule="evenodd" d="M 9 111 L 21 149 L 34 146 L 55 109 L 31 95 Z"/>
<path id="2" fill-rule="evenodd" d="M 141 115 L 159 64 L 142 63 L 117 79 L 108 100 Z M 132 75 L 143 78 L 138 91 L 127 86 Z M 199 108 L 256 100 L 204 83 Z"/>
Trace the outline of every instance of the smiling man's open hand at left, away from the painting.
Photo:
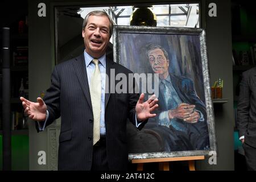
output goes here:
<path id="1" fill-rule="evenodd" d="M 36 100 L 38 102 L 31 102 L 24 97 L 20 97 L 20 101 L 22 101 L 22 106 L 24 108 L 24 114 L 35 121 L 45 121 L 47 110 L 46 104 L 44 104 L 44 101 L 40 97 Z"/>

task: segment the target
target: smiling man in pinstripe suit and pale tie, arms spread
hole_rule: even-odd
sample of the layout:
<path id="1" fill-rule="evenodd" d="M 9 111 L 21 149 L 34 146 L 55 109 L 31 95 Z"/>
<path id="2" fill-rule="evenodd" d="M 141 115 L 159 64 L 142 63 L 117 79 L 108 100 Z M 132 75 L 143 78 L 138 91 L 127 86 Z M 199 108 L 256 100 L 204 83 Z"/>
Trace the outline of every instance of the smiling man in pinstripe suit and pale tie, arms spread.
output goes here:
<path id="1" fill-rule="evenodd" d="M 130 92 L 134 80 L 123 85 L 127 92 L 115 92 L 115 75 L 122 73 L 129 78 L 132 72 L 106 58 L 112 32 L 108 14 L 89 13 L 82 26 L 84 53 L 56 65 L 44 101 L 20 98 L 28 117 L 40 121 L 39 131 L 61 117 L 60 170 L 126 170 L 127 118 L 142 126 L 155 117 L 151 112 L 158 107 L 158 100 L 143 102 L 144 94 Z"/>

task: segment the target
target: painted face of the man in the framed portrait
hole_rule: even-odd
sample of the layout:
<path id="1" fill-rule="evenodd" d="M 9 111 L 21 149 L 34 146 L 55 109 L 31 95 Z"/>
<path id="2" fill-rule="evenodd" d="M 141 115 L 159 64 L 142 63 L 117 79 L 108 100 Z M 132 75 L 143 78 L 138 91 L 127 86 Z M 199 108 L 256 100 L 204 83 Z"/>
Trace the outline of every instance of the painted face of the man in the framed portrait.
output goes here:
<path id="1" fill-rule="evenodd" d="M 169 60 L 166 59 L 161 49 L 152 49 L 148 52 L 151 68 L 159 76 L 168 75 Z"/>

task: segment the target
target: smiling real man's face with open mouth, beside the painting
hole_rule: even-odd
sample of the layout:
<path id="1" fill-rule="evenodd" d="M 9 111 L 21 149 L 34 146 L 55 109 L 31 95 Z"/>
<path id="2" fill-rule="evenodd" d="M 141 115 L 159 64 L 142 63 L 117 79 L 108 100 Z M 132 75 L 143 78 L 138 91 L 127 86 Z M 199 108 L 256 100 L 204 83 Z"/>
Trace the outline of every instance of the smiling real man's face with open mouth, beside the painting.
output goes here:
<path id="1" fill-rule="evenodd" d="M 82 31 L 85 51 L 92 57 L 101 57 L 109 43 L 110 22 L 106 16 L 89 16 L 88 23 Z"/>

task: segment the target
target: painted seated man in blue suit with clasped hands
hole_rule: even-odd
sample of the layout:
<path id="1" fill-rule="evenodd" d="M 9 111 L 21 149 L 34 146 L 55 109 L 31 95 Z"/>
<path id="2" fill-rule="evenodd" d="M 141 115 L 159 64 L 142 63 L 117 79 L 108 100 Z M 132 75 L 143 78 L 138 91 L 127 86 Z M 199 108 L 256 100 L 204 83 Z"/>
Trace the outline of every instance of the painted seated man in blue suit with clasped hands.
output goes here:
<path id="1" fill-rule="evenodd" d="M 163 136 L 165 151 L 209 149 L 206 108 L 192 80 L 169 73 L 171 63 L 163 47 L 147 44 L 146 56 L 152 71 L 159 74 L 159 111 L 145 127 Z"/>

